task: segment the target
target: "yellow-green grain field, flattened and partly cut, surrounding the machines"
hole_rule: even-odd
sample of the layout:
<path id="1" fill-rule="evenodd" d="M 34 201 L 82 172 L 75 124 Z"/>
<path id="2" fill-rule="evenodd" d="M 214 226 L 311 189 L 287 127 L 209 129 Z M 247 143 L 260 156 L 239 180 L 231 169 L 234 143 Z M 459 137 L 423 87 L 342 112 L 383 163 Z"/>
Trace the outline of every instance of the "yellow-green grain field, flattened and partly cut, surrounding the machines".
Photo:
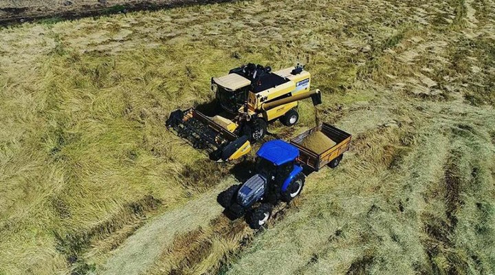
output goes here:
<path id="1" fill-rule="evenodd" d="M 495 274 L 495 3 L 236 1 L 0 30 L 0 274 Z M 353 134 L 266 230 L 167 131 L 243 63 L 303 63 Z M 270 124 L 268 139 L 315 125 Z"/>

